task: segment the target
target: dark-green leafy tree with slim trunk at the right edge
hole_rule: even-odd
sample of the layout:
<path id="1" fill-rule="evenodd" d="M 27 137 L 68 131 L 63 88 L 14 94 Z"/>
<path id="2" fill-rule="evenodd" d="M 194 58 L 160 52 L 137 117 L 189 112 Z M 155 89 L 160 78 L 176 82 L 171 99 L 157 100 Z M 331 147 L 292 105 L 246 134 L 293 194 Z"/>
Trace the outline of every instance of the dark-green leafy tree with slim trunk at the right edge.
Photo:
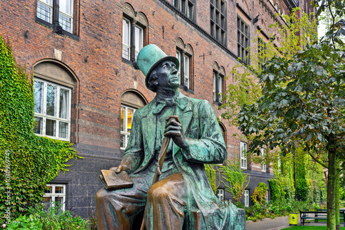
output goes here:
<path id="1" fill-rule="evenodd" d="M 317 6 L 318 2 L 312 2 Z M 345 34 L 345 2 L 324 0 L 317 15 L 326 8 L 333 23 L 322 41 L 295 54 L 292 59 L 275 56 L 259 74 L 262 97 L 252 105 L 243 105 L 237 118 L 239 129 L 253 135 L 250 150 L 282 147 L 284 153 L 304 145 L 305 151 L 327 152 L 328 167 L 327 228 L 336 229 L 335 192 L 339 160 L 344 165 L 345 138 L 345 51 L 339 39 Z M 332 11 L 333 9 L 334 12 Z M 335 45 L 338 44 L 338 45 Z M 339 187 L 338 187 L 339 188 Z"/>

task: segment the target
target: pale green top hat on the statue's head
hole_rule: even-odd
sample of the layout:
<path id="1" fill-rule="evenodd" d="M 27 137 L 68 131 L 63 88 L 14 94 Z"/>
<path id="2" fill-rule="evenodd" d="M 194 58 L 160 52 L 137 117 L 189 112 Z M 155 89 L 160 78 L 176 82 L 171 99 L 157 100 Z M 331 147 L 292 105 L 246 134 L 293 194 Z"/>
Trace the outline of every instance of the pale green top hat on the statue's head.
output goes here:
<path id="1" fill-rule="evenodd" d="M 155 69 L 162 61 L 172 61 L 176 65 L 176 69 L 179 70 L 179 59 L 175 56 L 166 55 L 157 45 L 150 44 L 142 48 L 137 56 L 137 65 L 141 72 L 146 76 L 145 84 L 148 87 L 148 76 L 150 72 Z"/>

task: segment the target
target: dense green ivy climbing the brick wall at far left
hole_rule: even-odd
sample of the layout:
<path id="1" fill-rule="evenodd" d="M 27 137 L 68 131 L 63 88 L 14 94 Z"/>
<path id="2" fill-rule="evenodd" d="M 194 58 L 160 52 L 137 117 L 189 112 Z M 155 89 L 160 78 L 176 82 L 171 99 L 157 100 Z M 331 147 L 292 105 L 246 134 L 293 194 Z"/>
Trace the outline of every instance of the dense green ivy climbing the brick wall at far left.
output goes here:
<path id="1" fill-rule="evenodd" d="M 8 223 L 41 203 L 47 182 L 79 158 L 71 143 L 36 136 L 32 84 L 0 36 L 0 218 Z"/>

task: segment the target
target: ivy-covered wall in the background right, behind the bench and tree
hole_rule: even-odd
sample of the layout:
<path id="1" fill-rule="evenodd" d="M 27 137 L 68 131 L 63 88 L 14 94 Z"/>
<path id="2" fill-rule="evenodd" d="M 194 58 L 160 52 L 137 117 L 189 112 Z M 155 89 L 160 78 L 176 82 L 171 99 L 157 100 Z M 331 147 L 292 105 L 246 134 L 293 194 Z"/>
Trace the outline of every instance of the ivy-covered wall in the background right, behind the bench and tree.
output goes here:
<path id="1" fill-rule="evenodd" d="M 295 189 L 295 163 L 297 187 Z M 293 199 L 322 203 L 326 201 L 326 184 L 322 166 L 300 147 L 295 154 L 282 157 L 280 169 L 274 164 L 275 178 L 269 180 L 271 200 Z"/>

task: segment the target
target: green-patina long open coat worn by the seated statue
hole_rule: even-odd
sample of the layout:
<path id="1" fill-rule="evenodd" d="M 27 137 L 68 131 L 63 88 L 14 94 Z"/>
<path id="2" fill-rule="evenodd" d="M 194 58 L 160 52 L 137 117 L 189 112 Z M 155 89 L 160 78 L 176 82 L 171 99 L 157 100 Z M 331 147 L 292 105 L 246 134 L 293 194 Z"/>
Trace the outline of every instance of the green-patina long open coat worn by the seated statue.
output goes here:
<path id="1" fill-rule="evenodd" d="M 130 163 L 134 173 L 145 169 L 154 156 L 156 134 L 156 99 L 135 112 L 128 147 L 122 162 Z M 160 108 L 161 109 L 161 108 Z M 224 138 L 213 108 L 208 101 L 188 98 L 179 93 L 176 114 L 188 149 L 173 144 L 173 160 L 188 187 L 186 229 L 245 229 L 243 209 L 231 202 L 220 202 L 210 187 L 204 164 L 226 160 Z M 237 222 L 237 224 L 235 224 Z"/>

